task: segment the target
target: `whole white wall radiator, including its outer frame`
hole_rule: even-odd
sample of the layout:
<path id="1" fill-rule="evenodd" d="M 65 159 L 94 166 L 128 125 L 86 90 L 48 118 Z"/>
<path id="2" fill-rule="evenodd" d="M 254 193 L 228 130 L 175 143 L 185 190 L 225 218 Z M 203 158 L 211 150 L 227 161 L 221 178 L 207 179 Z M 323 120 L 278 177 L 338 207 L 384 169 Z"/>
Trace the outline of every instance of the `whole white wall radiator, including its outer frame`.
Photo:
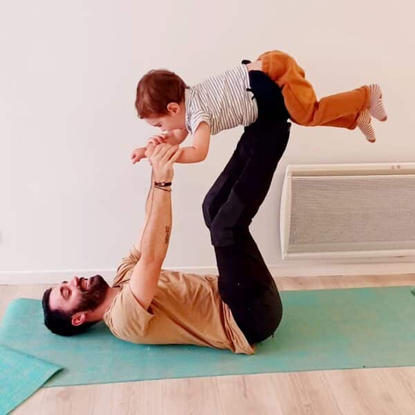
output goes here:
<path id="1" fill-rule="evenodd" d="M 415 257 L 415 163 L 288 165 L 283 259 Z"/>

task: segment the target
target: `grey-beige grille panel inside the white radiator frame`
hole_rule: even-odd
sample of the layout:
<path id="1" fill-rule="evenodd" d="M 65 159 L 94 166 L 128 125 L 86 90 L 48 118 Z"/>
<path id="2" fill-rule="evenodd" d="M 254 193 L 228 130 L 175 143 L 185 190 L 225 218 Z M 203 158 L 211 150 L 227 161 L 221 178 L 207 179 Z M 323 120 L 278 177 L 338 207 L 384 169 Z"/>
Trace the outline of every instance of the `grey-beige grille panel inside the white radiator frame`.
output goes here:
<path id="1" fill-rule="evenodd" d="M 284 253 L 301 257 L 318 252 L 415 252 L 415 174 L 290 180 L 283 257 Z"/>

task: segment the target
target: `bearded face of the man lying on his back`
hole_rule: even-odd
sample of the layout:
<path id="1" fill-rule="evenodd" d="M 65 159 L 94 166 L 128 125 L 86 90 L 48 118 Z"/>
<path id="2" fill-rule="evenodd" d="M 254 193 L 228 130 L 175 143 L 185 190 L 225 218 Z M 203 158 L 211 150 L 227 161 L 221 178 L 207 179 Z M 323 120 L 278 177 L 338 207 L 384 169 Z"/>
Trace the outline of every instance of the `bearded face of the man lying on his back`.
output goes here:
<path id="1" fill-rule="evenodd" d="M 49 306 L 67 313 L 94 311 L 104 301 L 109 285 L 100 275 L 91 278 L 73 277 L 50 292 Z"/>

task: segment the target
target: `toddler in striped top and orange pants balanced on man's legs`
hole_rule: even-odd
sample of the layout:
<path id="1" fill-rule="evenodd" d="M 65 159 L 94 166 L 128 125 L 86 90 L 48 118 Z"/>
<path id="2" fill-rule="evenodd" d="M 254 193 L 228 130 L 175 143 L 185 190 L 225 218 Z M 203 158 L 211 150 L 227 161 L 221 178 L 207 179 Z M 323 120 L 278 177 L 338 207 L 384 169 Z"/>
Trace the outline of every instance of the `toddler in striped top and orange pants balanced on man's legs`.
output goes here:
<path id="1" fill-rule="evenodd" d="M 175 73 L 149 71 L 137 86 L 138 116 L 163 132 L 153 136 L 147 147 L 131 154 L 133 163 L 149 156 L 154 145 L 181 144 L 188 133 L 192 146 L 184 147 L 178 163 L 198 163 L 208 155 L 210 136 L 219 131 L 248 126 L 258 118 L 257 99 L 250 90 L 250 71 L 262 71 L 282 90 L 289 118 L 304 126 L 359 127 L 369 142 L 376 136 L 371 117 L 387 120 L 378 84 L 329 95 L 317 101 L 313 86 L 293 57 L 279 50 L 243 60 L 225 73 L 189 87 Z"/>

